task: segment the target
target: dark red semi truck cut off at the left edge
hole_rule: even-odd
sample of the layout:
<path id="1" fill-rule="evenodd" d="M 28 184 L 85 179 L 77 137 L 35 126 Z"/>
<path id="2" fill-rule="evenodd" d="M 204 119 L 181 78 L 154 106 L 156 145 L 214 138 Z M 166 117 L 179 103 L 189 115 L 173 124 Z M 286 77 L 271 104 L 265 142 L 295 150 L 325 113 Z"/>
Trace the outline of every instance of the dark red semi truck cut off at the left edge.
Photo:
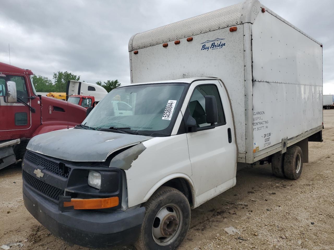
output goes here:
<path id="1" fill-rule="evenodd" d="M 74 127 L 86 109 L 37 95 L 31 70 L 0 62 L 0 169 L 22 159 L 30 138 Z"/>

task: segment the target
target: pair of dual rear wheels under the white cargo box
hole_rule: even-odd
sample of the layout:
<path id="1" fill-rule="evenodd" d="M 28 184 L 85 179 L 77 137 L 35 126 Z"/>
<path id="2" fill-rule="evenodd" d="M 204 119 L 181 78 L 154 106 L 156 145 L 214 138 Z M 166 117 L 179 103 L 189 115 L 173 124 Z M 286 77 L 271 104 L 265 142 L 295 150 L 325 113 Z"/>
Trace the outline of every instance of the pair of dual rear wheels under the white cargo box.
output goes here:
<path id="1" fill-rule="evenodd" d="M 288 147 L 286 153 L 273 155 L 271 165 L 275 176 L 297 180 L 303 169 L 303 152 L 299 146 Z"/>

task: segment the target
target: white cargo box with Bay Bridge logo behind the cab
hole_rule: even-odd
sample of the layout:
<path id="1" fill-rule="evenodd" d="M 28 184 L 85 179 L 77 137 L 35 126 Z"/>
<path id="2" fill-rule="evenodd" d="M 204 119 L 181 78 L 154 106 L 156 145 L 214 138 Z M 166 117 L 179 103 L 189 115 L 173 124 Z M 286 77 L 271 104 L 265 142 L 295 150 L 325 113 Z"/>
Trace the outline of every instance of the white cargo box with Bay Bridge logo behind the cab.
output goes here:
<path id="1" fill-rule="evenodd" d="M 258 1 L 136 34 L 129 55 L 134 83 L 220 78 L 231 99 L 240 162 L 322 129 L 322 45 Z"/>

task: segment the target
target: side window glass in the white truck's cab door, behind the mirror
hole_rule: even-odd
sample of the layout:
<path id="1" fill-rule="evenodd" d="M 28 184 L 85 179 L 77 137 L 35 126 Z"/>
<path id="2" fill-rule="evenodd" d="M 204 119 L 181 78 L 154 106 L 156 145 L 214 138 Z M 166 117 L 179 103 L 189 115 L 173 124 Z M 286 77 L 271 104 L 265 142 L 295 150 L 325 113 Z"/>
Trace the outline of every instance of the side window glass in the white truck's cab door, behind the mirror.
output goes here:
<path id="1" fill-rule="evenodd" d="M 190 98 L 188 104 L 189 114 L 195 119 L 198 127 L 210 126 L 206 122 L 206 113 L 205 113 L 205 96 L 213 95 L 216 98 L 217 108 L 218 108 L 218 122 L 217 125 L 225 125 L 225 115 L 223 110 L 223 105 L 218 93 L 216 85 L 200 85 L 197 86 Z"/>

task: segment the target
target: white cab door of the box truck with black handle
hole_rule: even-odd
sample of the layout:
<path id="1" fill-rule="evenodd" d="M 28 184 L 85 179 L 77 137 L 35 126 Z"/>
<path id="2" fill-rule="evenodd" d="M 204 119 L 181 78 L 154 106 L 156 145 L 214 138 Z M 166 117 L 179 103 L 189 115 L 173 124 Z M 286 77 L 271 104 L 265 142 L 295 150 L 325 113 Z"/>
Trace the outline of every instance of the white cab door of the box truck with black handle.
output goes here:
<path id="1" fill-rule="evenodd" d="M 194 86 L 193 86 L 194 85 Z M 217 80 L 192 83 L 187 115 L 197 127 L 206 127 L 205 96 L 213 95 L 218 107 L 218 122 L 213 129 L 187 132 L 192 179 L 197 205 L 235 185 L 236 144 L 228 96 Z M 190 95 L 190 93 L 188 93 Z"/>

